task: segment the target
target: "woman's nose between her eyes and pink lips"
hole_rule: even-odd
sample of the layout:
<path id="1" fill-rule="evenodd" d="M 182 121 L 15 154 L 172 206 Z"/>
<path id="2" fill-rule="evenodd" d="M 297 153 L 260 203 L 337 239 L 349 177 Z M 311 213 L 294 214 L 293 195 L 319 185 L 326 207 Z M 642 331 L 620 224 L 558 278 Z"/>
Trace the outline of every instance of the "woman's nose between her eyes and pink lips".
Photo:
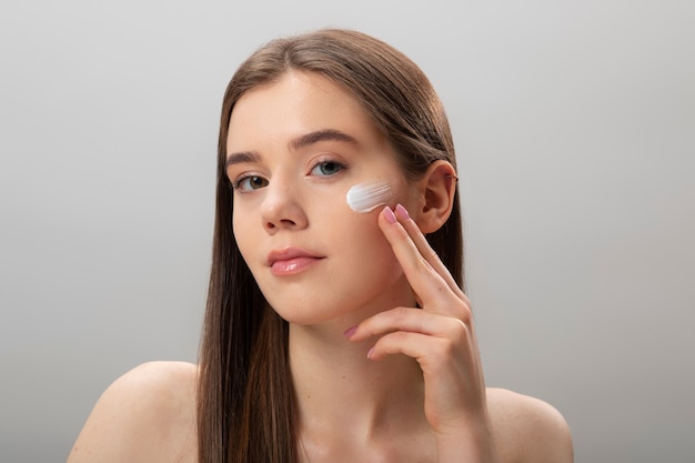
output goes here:
<path id="1" fill-rule="evenodd" d="M 309 221 L 295 187 L 275 179 L 265 188 L 264 193 L 261 203 L 261 220 L 268 233 L 274 234 L 279 230 L 306 228 Z"/>

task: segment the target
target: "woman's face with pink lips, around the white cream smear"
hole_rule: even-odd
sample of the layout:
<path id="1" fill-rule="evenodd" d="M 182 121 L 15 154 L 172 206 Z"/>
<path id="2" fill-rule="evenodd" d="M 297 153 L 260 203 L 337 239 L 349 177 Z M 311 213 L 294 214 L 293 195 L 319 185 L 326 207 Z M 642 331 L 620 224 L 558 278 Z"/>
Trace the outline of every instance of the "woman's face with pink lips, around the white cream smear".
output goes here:
<path id="1" fill-rule="evenodd" d="M 306 72 L 253 89 L 234 107 L 226 152 L 239 249 L 282 318 L 314 324 L 412 304 L 381 208 L 354 212 L 345 194 L 387 180 L 390 205 L 415 213 L 417 193 L 350 93 Z"/>

